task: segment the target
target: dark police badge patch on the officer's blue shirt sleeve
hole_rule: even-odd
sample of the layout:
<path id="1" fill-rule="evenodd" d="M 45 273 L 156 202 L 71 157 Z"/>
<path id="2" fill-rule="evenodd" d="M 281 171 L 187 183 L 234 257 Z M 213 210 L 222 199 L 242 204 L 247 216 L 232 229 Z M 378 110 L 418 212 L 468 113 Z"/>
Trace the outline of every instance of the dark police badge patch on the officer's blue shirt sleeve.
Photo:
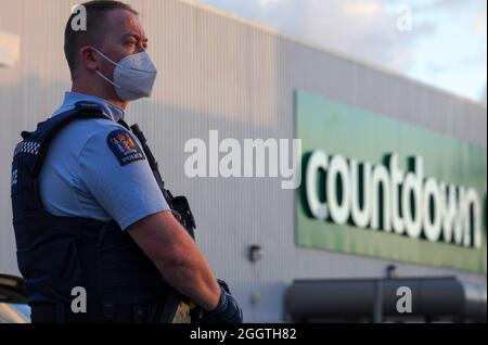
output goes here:
<path id="1" fill-rule="evenodd" d="M 121 129 L 112 131 L 107 137 L 107 144 L 121 166 L 137 161 L 144 161 L 145 155 L 131 135 Z"/>

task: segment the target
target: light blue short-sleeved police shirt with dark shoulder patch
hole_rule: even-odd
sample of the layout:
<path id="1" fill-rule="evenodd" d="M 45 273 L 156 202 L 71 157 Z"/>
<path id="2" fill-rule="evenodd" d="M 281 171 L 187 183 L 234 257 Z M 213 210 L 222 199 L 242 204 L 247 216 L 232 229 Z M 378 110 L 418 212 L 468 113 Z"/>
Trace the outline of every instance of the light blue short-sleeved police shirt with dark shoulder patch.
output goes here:
<path id="1" fill-rule="evenodd" d="M 66 92 L 53 116 L 80 101 L 99 104 L 111 120 L 75 120 L 54 138 L 39 176 L 46 210 L 61 217 L 114 219 L 123 230 L 169 210 L 140 142 L 117 124 L 124 118 L 121 108 L 97 97 Z"/>

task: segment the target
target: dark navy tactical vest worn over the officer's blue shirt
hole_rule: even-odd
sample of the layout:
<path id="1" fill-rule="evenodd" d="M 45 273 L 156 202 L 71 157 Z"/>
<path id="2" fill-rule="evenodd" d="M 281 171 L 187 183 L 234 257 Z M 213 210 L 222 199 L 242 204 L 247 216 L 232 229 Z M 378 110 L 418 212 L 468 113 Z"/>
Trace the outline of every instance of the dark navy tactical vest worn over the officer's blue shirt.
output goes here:
<path id="1" fill-rule="evenodd" d="M 74 111 L 23 132 L 12 163 L 13 225 L 18 268 L 30 292 L 29 304 L 69 304 L 76 286 L 89 304 L 164 301 L 168 284 L 155 265 L 115 221 L 57 217 L 42 206 L 39 173 L 53 138 L 74 120 L 104 116 L 97 104 Z"/>

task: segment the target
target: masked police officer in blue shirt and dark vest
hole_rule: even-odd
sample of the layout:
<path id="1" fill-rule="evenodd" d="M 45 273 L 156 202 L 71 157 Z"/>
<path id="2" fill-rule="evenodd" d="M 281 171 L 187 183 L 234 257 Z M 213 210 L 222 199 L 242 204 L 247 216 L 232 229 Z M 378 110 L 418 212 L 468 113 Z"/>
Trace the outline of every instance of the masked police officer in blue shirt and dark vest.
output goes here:
<path id="1" fill-rule="evenodd" d="M 183 303 L 201 307 L 197 321 L 242 322 L 124 122 L 157 73 L 138 13 L 118 1 L 84 7 L 87 30 L 73 30 L 74 15 L 65 29 L 72 92 L 22 133 L 12 164 L 33 322 L 171 322 Z M 75 288 L 86 292 L 85 310 L 73 308 Z"/>

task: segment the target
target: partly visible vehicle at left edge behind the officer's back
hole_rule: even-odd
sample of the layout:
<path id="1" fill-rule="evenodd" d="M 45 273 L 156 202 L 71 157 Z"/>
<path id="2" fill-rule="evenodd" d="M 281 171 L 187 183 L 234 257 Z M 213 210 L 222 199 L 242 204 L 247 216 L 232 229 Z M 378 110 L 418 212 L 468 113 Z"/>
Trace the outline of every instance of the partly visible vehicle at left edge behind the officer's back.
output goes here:
<path id="1" fill-rule="evenodd" d="M 0 274 L 0 323 L 29 323 L 27 296 L 22 278 Z"/>

